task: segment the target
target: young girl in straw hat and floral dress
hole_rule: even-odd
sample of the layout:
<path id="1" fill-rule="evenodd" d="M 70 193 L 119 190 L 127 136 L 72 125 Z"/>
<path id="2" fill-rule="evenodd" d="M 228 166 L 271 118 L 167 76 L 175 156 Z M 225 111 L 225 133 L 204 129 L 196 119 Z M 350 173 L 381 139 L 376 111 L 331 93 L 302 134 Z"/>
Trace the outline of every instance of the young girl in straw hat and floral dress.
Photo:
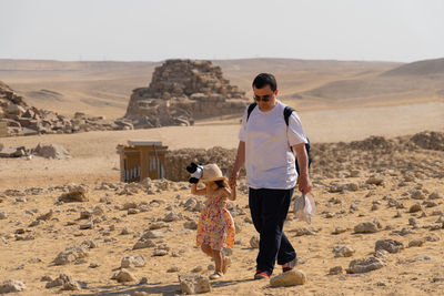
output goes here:
<path id="1" fill-rule="evenodd" d="M 215 173 L 210 173 L 210 169 L 214 169 Z M 226 273 L 231 263 L 230 257 L 223 256 L 221 251 L 234 244 L 234 222 L 225 204 L 226 198 L 235 200 L 236 188 L 230 190 L 216 165 L 205 165 L 203 176 L 210 176 L 200 180 L 205 184 L 204 188 L 198 188 L 198 184 L 191 186 L 192 194 L 206 195 L 206 205 L 199 218 L 196 243 L 203 253 L 214 259 L 215 271 L 210 278 L 218 279 Z"/>

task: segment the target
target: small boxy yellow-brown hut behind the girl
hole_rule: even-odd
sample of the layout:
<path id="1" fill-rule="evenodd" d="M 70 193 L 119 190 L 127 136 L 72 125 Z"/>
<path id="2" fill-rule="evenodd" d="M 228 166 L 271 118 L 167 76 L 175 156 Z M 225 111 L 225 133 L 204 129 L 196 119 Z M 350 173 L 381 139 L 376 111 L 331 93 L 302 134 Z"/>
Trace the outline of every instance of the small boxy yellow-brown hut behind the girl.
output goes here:
<path id="1" fill-rule="evenodd" d="M 165 177 L 164 160 L 168 146 L 159 141 L 128 141 L 118 145 L 122 182 L 140 182 L 147 177 Z"/>

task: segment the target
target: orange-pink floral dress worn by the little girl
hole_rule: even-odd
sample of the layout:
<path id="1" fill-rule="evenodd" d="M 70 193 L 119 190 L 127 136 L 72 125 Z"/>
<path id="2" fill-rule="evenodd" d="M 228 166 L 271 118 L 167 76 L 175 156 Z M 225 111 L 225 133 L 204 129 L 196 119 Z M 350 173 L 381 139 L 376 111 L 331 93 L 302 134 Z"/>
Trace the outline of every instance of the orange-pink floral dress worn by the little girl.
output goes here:
<path id="1" fill-rule="evenodd" d="M 215 191 L 206 196 L 206 205 L 202 210 L 198 224 L 196 243 L 212 249 L 231 248 L 234 244 L 234 221 L 226 210 L 226 197 Z"/>

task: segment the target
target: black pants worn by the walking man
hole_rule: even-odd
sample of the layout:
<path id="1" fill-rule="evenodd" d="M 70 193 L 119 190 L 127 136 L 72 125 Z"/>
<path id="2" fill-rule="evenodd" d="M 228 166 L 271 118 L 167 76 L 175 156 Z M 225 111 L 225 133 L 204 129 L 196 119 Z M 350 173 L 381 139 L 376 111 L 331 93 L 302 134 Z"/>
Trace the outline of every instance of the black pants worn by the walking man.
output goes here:
<path id="1" fill-rule="evenodd" d="M 289 212 L 291 190 L 260 188 L 249 191 L 249 205 L 254 227 L 260 233 L 256 271 L 273 273 L 274 264 L 282 265 L 296 257 L 293 246 L 283 233 Z"/>

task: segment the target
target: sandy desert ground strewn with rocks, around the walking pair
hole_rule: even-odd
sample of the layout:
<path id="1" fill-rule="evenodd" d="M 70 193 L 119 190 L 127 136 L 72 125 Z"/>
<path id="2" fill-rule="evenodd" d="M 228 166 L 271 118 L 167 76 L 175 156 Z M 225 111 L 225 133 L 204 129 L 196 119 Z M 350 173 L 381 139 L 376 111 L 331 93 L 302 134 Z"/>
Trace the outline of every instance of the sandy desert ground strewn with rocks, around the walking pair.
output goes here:
<path id="1" fill-rule="evenodd" d="M 323 156 L 323 162 L 317 160 L 317 166 L 314 163 L 312 167 L 313 194 L 317 202 L 313 224 L 295 221 L 290 214 L 284 226 L 299 255 L 296 268 L 306 274 L 307 283 L 274 288 L 268 280 L 252 280 L 258 249 L 251 246 L 250 239 L 256 233 L 248 208 L 245 181 L 241 180 L 238 200 L 230 203 L 238 225 L 232 266 L 222 279 L 211 282 L 211 295 L 441 295 L 444 290 L 444 152 L 407 143 L 418 132 L 444 132 L 443 99 L 427 96 L 426 92 L 406 92 L 405 96 L 394 95 L 392 100 L 363 94 L 362 100 L 327 101 L 317 96 L 309 105 L 304 100 L 313 93 L 305 91 L 334 93 L 337 85 L 330 82 L 347 76 L 374 79 L 375 73 L 397 64 L 374 63 L 369 70 L 350 63 L 341 71 L 330 64 L 330 72 L 325 65 L 317 65 L 322 68 L 322 75 L 316 76 L 319 81 L 323 76 L 323 83 L 313 85 L 312 79 L 303 78 L 291 89 L 291 81 L 299 75 L 285 69 L 286 64 L 281 65 L 285 78 L 282 85 L 287 89 L 282 98 L 300 110 L 305 131 L 312 143 L 322 147 L 319 153 Z M 154 65 L 139 65 L 139 71 L 145 72 Z M 251 63 L 223 67 L 230 79 L 246 91 L 250 85 L 246 73 L 259 70 Z M 1 80 L 22 93 L 40 89 L 63 93 L 59 103 L 48 98 L 39 102 L 37 96 L 31 96 L 30 104 L 40 103 L 40 108 L 52 105 L 54 111 L 69 114 L 103 111 L 107 116 L 118 118 L 125 108 L 124 93 L 130 92 L 133 79 L 140 79 L 141 73 L 120 71 L 127 78 L 110 74 L 110 80 L 101 76 L 89 84 L 90 76 L 68 72 L 61 73 L 60 81 L 53 79 L 53 71 L 41 82 L 34 74 L 23 76 L 11 71 L 9 81 Z M 68 86 L 71 79 L 77 82 Z M 127 81 L 122 83 L 125 86 L 113 91 L 104 86 L 111 85 L 114 79 Z M 147 85 L 149 79 L 143 81 L 142 85 Z M 135 86 L 141 82 L 137 81 Z M 83 91 L 80 85 L 84 86 Z M 85 101 L 75 103 L 100 85 L 103 92 L 93 102 L 102 96 L 107 108 L 93 108 L 84 104 Z M 115 100 L 107 92 L 113 92 Z M 302 99 L 292 98 L 301 93 Z M 112 100 L 115 105 L 110 105 Z M 137 292 L 176 295 L 181 294 L 178 275 L 210 275 L 213 263 L 194 246 L 193 225 L 204 198 L 191 195 L 186 182 L 120 183 L 115 146 L 128 140 L 155 139 L 170 150 L 233 149 L 238 145 L 239 127 L 239 115 L 235 115 L 199 121 L 194 126 L 1 139 L 4 146 L 27 149 L 39 142 L 61 144 L 69 150 L 71 159 L 0 159 L 0 284 L 8 279 L 23 282 L 27 288 L 18 295 L 134 295 Z M 389 151 L 380 151 L 363 141 L 371 135 L 384 136 L 383 144 L 390 144 Z M 361 142 L 346 144 L 352 141 Z M 88 190 L 88 201 L 59 202 L 72 183 Z M 360 223 L 372 224 L 374 232 L 356 232 Z M 144 235 L 151 237 L 152 244 L 133 249 Z M 375 255 L 375 243 L 380 239 L 394 239 L 404 248 L 393 254 L 376 254 L 384 265 L 381 269 L 363 274 L 345 272 L 352 261 Z M 83 242 L 78 258 L 56 264 L 61 252 Z M 335 257 L 336 246 L 349 246 L 354 252 L 349 252 L 349 257 Z M 120 284 L 111 277 L 119 272 L 127 255 L 142 255 L 145 264 L 128 268 L 137 279 Z M 335 266 L 341 266 L 343 272 L 330 275 Z M 273 275 L 280 273 L 276 266 Z M 82 288 L 46 288 L 60 274 L 72 276 Z M 140 283 L 143 277 L 145 283 Z"/>

